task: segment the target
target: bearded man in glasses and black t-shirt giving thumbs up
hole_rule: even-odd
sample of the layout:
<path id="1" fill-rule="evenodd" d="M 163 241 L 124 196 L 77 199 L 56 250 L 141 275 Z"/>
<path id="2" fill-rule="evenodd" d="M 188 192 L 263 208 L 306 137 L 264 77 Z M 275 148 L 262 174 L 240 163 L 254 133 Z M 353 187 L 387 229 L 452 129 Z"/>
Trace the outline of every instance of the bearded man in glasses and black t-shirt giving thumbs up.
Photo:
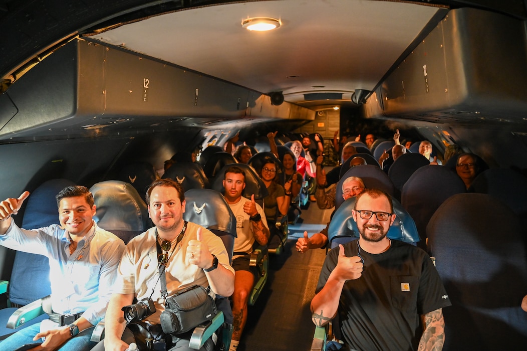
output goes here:
<path id="1" fill-rule="evenodd" d="M 311 301 L 313 322 L 338 317 L 347 350 L 440 350 L 442 308 L 451 302 L 425 251 L 386 238 L 395 220 L 391 196 L 365 189 L 352 213 L 359 239 L 329 251 Z"/>

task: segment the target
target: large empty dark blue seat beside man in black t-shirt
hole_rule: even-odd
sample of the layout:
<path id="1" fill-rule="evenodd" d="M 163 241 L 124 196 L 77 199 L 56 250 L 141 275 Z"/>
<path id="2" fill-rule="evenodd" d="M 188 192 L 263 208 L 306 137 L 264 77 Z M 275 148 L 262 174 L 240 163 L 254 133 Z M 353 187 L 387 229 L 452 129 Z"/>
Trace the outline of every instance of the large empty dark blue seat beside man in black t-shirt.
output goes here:
<path id="1" fill-rule="evenodd" d="M 517 350 L 527 345 L 525 233 L 510 208 L 487 194 L 448 198 L 427 226 L 451 307 L 444 350 Z"/>

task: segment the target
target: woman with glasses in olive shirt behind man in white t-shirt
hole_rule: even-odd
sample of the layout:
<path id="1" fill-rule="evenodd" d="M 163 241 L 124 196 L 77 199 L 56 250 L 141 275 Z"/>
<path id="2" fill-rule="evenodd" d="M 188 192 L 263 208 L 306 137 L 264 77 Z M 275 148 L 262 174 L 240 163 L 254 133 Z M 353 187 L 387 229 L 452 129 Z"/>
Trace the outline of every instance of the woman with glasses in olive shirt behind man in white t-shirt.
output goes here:
<path id="1" fill-rule="evenodd" d="M 274 249 L 282 240 L 282 234 L 277 229 L 275 223 L 277 218 L 287 215 L 289 203 L 291 202 L 291 182 L 289 181 L 282 187 L 278 184 L 278 165 L 275 160 L 266 157 L 264 165 L 260 170 L 260 178 L 264 181 L 269 195 L 264 197 L 264 212 L 269 226 L 269 247 Z"/>

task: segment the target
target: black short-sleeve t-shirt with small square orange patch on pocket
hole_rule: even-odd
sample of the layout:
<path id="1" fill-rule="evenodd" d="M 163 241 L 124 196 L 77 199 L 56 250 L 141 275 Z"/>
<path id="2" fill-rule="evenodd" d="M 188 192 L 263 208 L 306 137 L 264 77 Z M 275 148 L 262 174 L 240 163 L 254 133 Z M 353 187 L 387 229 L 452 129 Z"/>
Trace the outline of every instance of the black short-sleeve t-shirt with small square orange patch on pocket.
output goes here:
<path id="1" fill-rule="evenodd" d="M 344 245 L 347 257 L 358 241 Z M 336 267 L 339 250 L 331 250 L 320 272 L 317 292 Z M 360 250 L 362 276 L 345 282 L 338 306 L 338 326 L 346 345 L 356 350 L 417 349 L 423 332 L 421 315 L 451 302 L 428 254 L 392 240 L 379 254 Z"/>

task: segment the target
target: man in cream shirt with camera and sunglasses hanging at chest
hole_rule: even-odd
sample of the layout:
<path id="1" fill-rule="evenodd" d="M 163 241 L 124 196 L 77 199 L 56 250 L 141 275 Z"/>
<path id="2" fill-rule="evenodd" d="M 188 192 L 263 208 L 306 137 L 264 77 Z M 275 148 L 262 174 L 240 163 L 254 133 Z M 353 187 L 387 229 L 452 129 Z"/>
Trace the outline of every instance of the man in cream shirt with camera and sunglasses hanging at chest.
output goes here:
<path id="1" fill-rule="evenodd" d="M 175 292 L 194 284 L 210 287 L 213 293 L 222 296 L 231 295 L 234 289 L 234 271 L 221 239 L 208 229 L 183 220 L 185 197 L 179 183 L 170 178 L 153 182 L 147 191 L 147 203 L 155 226 L 126 245 L 106 312 L 104 340 L 94 350 L 124 350 L 130 343 L 136 343 L 136 338 L 141 338 L 126 327 L 122 311 L 134 299 L 149 299 L 153 303 L 155 311 L 147 313 L 143 321 L 150 326 L 150 331 L 160 331 L 165 298 Z M 160 279 L 161 273 L 166 274 L 165 284 Z M 177 336 L 161 333 L 157 339 L 164 340 L 167 350 L 184 351 L 190 350 L 191 334 L 192 330 Z M 212 347 L 209 339 L 202 349 Z"/>

